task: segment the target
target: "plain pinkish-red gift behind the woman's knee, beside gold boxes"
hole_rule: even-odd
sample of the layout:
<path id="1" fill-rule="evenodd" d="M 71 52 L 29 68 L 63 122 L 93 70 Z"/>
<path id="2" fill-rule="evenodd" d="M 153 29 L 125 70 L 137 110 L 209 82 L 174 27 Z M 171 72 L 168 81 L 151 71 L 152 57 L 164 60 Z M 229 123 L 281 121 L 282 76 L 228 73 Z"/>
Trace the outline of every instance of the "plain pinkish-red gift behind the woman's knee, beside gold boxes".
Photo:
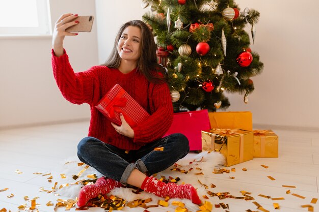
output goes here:
<path id="1" fill-rule="evenodd" d="M 208 110 L 174 113 L 173 124 L 164 136 L 181 133 L 189 139 L 190 150 L 202 150 L 202 130 L 209 130 Z"/>

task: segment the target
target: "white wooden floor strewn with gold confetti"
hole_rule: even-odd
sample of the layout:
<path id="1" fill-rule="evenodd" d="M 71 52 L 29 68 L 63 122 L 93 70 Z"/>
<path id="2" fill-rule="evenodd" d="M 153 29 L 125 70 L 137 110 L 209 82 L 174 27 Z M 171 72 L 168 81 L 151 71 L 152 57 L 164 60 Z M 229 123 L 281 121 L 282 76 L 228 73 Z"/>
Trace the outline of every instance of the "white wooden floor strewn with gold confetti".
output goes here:
<path id="1" fill-rule="evenodd" d="M 54 185 L 49 184 L 42 175 L 34 173 L 50 173 L 66 158 L 76 155 L 76 145 L 86 136 L 87 129 L 88 123 L 82 122 L 0 131 L 0 211 L 18 211 L 18 206 L 25 203 L 31 206 L 30 202 L 24 200 L 25 196 L 29 199 L 39 197 L 36 200 L 41 205 L 37 206 L 39 211 L 54 211 L 54 206 L 47 206 L 46 203 L 51 201 L 55 205 L 59 197 L 39 191 L 41 187 L 50 189 Z M 212 197 L 209 201 L 213 205 L 221 202 L 229 205 L 229 209 L 214 206 L 213 211 L 262 211 L 256 209 L 253 202 L 268 211 L 308 211 L 308 207 L 302 208 L 301 205 L 312 205 L 313 211 L 319 211 L 319 202 L 311 203 L 313 198 L 319 199 L 319 132 L 272 130 L 279 136 L 279 158 L 255 158 L 229 167 L 236 168 L 236 172 L 231 173 L 235 179 L 230 179 L 227 174 L 211 174 L 208 177 L 219 188 L 219 192 L 241 196 L 238 191 L 244 190 L 251 192 L 249 195 L 254 200 L 219 200 Z M 265 169 L 261 164 L 269 168 Z M 242 171 L 243 168 L 248 171 Z M 283 185 L 296 188 L 283 188 Z M 290 194 L 286 194 L 287 190 L 290 190 Z M 11 194 L 14 196 L 10 197 Z M 272 200 L 258 196 L 260 194 L 284 199 Z M 292 194 L 303 196 L 304 199 Z M 274 209 L 273 203 L 278 203 L 280 209 Z M 71 208 L 71 211 L 74 210 L 75 207 Z M 127 207 L 123 210 L 130 211 Z M 148 210 L 165 211 L 159 208 Z M 89 211 L 104 210 L 90 208 Z"/>

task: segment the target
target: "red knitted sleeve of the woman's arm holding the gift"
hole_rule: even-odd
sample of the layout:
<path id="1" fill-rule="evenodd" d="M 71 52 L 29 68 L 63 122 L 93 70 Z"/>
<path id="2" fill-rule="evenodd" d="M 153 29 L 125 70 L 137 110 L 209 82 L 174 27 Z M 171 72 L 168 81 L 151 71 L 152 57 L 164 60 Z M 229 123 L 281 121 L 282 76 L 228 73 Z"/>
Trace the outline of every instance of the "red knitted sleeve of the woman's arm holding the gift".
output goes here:
<path id="1" fill-rule="evenodd" d="M 154 84 L 150 92 L 150 108 L 154 112 L 144 123 L 133 128 L 135 143 L 149 143 L 162 138 L 173 122 L 173 104 L 167 83 Z"/>

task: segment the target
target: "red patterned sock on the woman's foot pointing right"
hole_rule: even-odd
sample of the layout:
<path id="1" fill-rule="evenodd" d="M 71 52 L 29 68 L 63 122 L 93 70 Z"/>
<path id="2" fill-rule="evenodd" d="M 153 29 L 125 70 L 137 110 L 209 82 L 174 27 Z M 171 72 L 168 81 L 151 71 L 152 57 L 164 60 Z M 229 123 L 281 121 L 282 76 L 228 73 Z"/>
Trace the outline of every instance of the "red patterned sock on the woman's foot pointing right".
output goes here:
<path id="1" fill-rule="evenodd" d="M 201 201 L 197 195 L 196 189 L 191 184 L 177 185 L 174 183 L 163 183 L 153 176 L 146 177 L 142 183 L 141 189 L 155 194 L 159 197 L 169 196 L 170 198 L 190 199 L 195 204 Z"/>

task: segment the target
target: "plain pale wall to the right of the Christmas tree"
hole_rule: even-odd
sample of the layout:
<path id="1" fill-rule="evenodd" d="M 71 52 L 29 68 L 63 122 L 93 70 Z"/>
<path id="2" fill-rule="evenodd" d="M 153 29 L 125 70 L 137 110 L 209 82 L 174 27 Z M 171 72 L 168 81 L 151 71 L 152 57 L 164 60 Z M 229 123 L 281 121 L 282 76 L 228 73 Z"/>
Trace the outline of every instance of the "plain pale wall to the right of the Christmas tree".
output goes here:
<path id="1" fill-rule="evenodd" d="M 229 110 L 250 110 L 254 126 L 294 126 L 319 130 L 318 1 L 237 0 L 260 12 L 255 44 L 264 63 L 253 77 L 255 90 L 249 103 L 229 95 Z M 250 28 L 248 28 L 249 30 Z"/>

